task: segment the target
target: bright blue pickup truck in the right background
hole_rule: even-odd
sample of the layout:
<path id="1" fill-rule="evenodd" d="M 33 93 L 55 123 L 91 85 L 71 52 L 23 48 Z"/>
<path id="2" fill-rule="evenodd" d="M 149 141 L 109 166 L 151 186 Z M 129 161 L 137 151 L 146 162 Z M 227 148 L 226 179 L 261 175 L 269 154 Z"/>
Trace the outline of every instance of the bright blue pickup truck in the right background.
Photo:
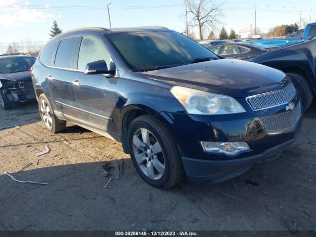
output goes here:
<path id="1" fill-rule="evenodd" d="M 316 22 L 308 24 L 304 30 L 302 37 L 297 38 L 280 38 L 280 39 L 269 39 L 269 40 L 253 40 L 252 43 L 261 44 L 267 48 L 280 47 L 285 45 L 290 45 L 298 43 L 304 40 L 309 40 L 316 35 Z"/>

